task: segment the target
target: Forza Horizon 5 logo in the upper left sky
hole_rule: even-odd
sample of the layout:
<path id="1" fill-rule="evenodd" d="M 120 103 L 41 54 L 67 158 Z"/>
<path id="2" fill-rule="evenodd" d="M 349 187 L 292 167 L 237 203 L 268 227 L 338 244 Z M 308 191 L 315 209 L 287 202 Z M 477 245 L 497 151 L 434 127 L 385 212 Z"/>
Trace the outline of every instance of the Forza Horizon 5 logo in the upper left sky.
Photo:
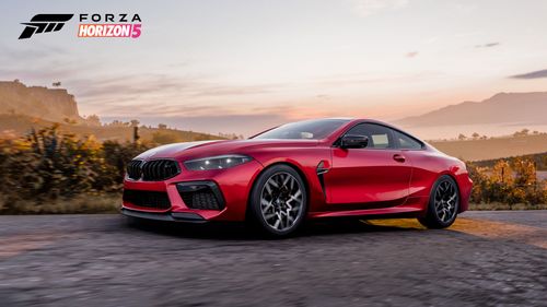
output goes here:
<path id="1" fill-rule="evenodd" d="M 58 32 L 74 14 L 37 14 L 25 25 L 19 39 L 27 39 L 36 34 Z M 79 14 L 78 37 L 126 37 L 141 35 L 142 21 L 139 14 Z"/>

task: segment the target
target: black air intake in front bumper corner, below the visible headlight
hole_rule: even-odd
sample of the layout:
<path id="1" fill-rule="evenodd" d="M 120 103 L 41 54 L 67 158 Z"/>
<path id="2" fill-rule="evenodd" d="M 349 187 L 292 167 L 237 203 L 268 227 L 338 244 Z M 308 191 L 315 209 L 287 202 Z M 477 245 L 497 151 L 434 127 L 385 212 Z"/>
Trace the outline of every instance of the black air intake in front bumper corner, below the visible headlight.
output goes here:
<path id="1" fill-rule="evenodd" d="M 222 194 L 212 182 L 181 182 L 177 189 L 189 209 L 222 210 L 224 208 Z"/>

